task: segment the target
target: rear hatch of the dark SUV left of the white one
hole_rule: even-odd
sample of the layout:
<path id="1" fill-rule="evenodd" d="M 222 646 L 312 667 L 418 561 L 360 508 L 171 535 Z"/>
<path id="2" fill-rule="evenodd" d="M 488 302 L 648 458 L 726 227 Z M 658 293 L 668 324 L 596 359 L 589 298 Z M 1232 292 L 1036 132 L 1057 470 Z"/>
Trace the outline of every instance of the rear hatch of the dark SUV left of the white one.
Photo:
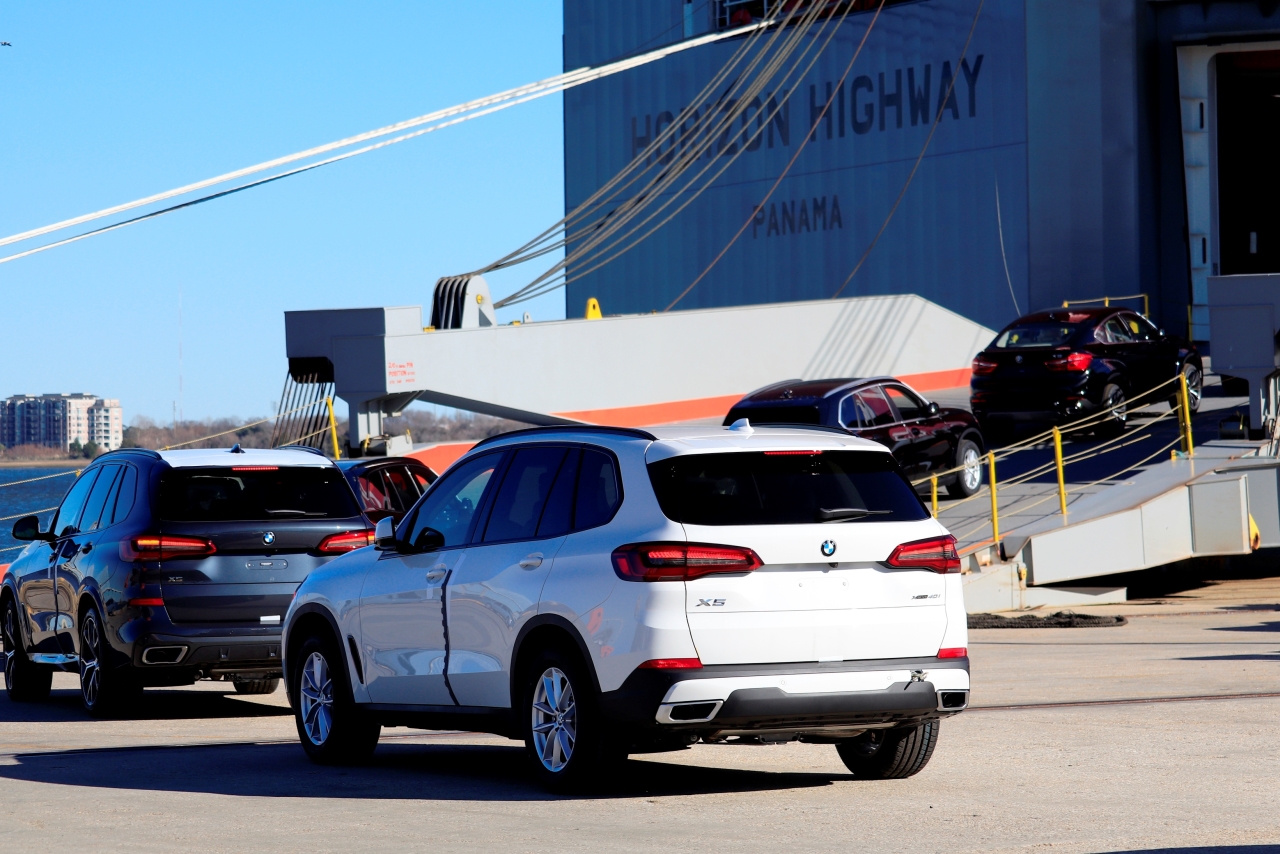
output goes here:
<path id="1" fill-rule="evenodd" d="M 273 625 L 303 579 L 340 553 L 332 538 L 349 548 L 361 540 L 340 534 L 367 528 L 342 472 L 315 465 L 170 469 L 155 515 L 163 536 L 212 547 L 147 563 L 175 624 Z"/>

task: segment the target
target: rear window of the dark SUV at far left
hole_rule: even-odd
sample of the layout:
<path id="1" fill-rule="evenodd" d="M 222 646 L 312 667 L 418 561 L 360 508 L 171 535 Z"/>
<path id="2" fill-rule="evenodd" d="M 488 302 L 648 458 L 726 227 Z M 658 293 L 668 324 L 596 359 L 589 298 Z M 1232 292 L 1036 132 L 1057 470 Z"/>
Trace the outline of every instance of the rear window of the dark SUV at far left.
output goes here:
<path id="1" fill-rule="evenodd" d="M 334 467 L 170 469 L 156 512 L 172 522 L 349 519 L 356 498 Z"/>

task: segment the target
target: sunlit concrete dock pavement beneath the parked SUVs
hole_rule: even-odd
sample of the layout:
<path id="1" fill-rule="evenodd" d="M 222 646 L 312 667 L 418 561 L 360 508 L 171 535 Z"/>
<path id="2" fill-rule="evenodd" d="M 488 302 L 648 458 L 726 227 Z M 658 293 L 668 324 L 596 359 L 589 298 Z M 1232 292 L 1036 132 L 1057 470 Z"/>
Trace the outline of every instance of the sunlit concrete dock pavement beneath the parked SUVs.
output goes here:
<path id="1" fill-rule="evenodd" d="M 1280 851 L 1276 608 L 1256 579 L 1091 608 L 1117 627 L 973 631 L 974 708 L 888 782 L 829 745 L 698 745 L 561 798 L 516 743 L 406 729 L 323 768 L 283 690 L 92 721 L 60 675 L 47 703 L 0 697 L 0 850 Z"/>

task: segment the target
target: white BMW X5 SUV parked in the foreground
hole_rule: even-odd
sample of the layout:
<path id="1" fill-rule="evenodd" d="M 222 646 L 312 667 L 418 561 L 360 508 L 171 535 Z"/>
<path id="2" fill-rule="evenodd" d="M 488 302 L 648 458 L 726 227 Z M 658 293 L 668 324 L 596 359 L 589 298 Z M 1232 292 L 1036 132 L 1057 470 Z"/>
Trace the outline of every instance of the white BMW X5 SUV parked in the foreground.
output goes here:
<path id="1" fill-rule="evenodd" d="M 823 428 L 536 428 L 458 460 L 285 616 L 316 762 L 383 726 L 525 741 L 553 787 L 698 740 L 929 761 L 969 700 L 955 539 L 882 446 Z"/>

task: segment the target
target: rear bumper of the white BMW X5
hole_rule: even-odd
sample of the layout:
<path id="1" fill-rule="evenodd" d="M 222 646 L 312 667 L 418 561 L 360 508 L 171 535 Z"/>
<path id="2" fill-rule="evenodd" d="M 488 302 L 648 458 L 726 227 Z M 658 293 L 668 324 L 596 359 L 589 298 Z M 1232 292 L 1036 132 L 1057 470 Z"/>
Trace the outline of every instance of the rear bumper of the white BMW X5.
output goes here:
<path id="1" fill-rule="evenodd" d="M 968 703 L 966 658 L 637 670 L 602 697 L 616 723 L 699 736 L 820 736 L 947 717 Z"/>

